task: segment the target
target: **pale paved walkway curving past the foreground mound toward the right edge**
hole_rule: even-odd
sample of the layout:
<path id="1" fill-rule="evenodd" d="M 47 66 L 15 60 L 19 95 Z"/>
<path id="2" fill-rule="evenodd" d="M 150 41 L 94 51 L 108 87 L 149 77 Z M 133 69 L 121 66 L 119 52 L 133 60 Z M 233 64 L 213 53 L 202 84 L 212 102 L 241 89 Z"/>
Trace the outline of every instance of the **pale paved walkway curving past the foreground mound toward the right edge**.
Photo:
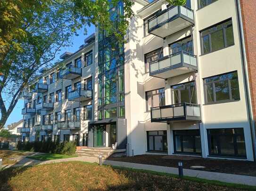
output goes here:
<path id="1" fill-rule="evenodd" d="M 19 161 L 18 164 L 13 165 L 12 167 L 51 164 L 51 163 L 67 162 L 67 161 L 99 162 L 99 159 L 90 158 L 90 157 L 74 157 L 74 158 L 67 158 L 67 159 L 39 161 L 39 160 L 24 158 L 23 161 Z M 163 166 L 138 164 L 138 163 L 131 163 L 131 162 L 120 162 L 120 161 L 113 161 L 113 160 L 103 160 L 103 164 L 117 166 L 117 167 L 151 170 L 156 172 L 163 172 L 163 173 L 178 175 L 178 168 L 173 168 L 173 167 L 163 167 Z M 8 167 L 5 167 L 5 168 L 8 168 Z M 183 169 L 183 174 L 184 176 L 198 177 L 198 178 L 203 178 L 207 180 L 217 180 L 217 181 L 226 182 L 226 183 L 239 183 L 239 184 L 256 186 L 255 176 L 233 175 L 233 174 L 208 172 L 208 171 L 201 171 L 201 170 L 191 170 L 191 169 Z"/>

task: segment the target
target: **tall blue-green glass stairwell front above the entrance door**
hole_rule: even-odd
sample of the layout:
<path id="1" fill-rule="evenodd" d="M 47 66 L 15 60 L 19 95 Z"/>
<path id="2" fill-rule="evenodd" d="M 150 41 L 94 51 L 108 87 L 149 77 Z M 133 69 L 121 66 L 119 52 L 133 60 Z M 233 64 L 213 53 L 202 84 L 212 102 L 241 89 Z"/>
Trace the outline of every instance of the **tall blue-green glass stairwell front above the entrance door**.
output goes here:
<path id="1" fill-rule="evenodd" d="M 123 2 L 110 7 L 116 23 L 124 15 Z M 124 43 L 99 28 L 98 120 L 124 117 Z"/>

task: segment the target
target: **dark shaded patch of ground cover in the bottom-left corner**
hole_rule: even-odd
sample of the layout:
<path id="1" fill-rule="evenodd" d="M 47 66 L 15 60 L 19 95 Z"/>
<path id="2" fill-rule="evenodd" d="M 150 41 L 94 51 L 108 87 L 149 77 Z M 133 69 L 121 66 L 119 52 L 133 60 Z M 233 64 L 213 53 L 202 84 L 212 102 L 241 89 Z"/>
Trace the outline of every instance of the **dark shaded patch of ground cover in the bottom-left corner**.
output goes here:
<path id="1" fill-rule="evenodd" d="M 30 167 L 10 167 L 3 170 L 0 169 L 0 191 L 12 191 L 8 180 L 20 173 L 23 173 L 27 168 Z"/>

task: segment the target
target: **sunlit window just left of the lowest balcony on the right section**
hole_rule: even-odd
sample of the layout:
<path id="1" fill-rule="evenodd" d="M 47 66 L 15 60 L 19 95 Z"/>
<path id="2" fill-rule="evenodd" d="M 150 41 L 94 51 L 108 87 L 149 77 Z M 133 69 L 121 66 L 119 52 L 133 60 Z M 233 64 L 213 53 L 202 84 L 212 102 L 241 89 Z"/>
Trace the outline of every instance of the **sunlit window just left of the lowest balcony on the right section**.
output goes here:
<path id="1" fill-rule="evenodd" d="M 165 88 L 146 92 L 147 111 L 150 107 L 165 106 Z"/>

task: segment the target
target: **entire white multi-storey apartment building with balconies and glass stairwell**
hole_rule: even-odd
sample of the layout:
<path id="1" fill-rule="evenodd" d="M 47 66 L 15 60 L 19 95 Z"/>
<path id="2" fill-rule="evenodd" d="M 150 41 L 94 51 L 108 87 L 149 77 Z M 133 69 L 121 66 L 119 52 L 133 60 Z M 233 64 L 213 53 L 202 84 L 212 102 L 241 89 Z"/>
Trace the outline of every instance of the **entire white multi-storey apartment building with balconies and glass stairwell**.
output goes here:
<path id="1" fill-rule="evenodd" d="M 255 2 L 134 2 L 125 44 L 96 29 L 41 70 L 34 93 L 24 92 L 23 137 L 254 160 Z M 117 21 L 123 11 L 110 9 Z"/>

